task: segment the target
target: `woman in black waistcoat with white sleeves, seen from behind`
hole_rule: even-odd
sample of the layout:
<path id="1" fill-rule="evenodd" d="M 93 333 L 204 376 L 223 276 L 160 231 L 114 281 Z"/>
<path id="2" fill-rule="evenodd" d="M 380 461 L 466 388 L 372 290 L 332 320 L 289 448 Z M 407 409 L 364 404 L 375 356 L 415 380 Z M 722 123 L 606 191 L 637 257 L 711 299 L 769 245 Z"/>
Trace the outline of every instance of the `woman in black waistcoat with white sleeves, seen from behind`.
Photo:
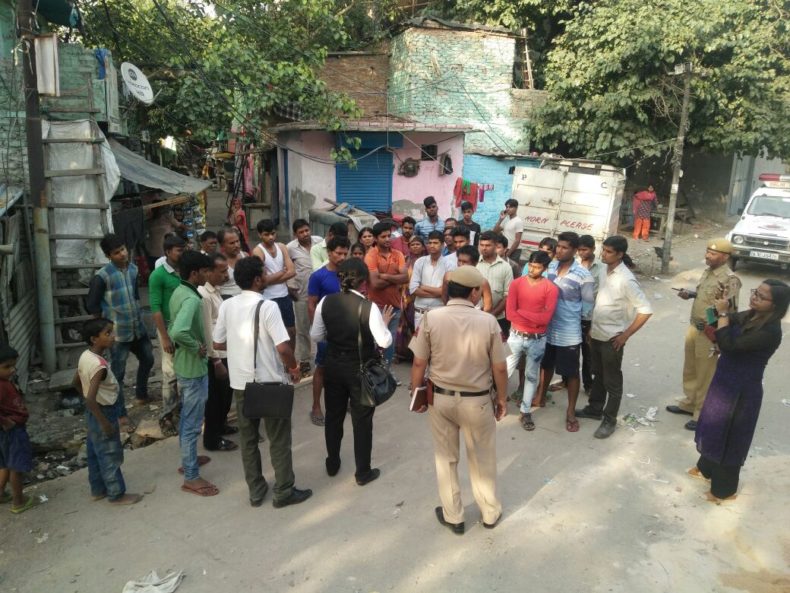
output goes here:
<path id="1" fill-rule="evenodd" d="M 338 270 L 340 292 L 321 299 L 310 328 L 313 341 L 327 342 L 324 362 L 326 472 L 334 476 L 340 471 L 343 422 L 346 410 L 350 410 L 356 462 L 354 477 L 360 486 L 372 482 L 381 473 L 378 468 L 370 467 L 375 408 L 360 403 L 360 366 L 361 362 L 380 356 L 378 348 L 387 348 L 392 343 L 387 329 L 392 307 L 379 311 L 358 290 L 368 276 L 368 268 L 362 260 L 344 261 Z"/>

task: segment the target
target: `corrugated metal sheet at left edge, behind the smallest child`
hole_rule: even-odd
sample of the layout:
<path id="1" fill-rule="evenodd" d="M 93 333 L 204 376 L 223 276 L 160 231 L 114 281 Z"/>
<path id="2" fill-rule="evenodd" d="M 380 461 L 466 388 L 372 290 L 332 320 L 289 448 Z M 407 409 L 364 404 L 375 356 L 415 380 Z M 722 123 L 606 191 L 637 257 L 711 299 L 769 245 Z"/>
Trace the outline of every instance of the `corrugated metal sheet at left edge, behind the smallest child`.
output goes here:
<path id="1" fill-rule="evenodd" d="M 35 276 L 32 253 L 21 211 L 3 219 L 3 243 L 14 246 L 13 253 L 0 263 L 0 309 L 3 320 L 3 339 L 19 352 L 17 376 L 24 390 L 30 362 L 38 339 L 38 308 L 33 284 Z"/>

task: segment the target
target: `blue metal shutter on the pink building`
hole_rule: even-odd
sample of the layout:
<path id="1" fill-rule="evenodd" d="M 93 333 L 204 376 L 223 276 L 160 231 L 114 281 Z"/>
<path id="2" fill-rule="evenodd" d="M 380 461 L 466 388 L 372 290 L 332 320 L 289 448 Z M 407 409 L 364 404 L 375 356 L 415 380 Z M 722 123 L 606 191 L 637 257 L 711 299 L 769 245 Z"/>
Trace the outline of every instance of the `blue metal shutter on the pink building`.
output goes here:
<path id="1" fill-rule="evenodd" d="M 351 152 L 358 159 L 355 169 L 345 163 L 335 165 L 335 199 L 366 212 L 389 212 L 392 209 L 392 153 L 383 148 L 373 154 L 368 152 Z"/>

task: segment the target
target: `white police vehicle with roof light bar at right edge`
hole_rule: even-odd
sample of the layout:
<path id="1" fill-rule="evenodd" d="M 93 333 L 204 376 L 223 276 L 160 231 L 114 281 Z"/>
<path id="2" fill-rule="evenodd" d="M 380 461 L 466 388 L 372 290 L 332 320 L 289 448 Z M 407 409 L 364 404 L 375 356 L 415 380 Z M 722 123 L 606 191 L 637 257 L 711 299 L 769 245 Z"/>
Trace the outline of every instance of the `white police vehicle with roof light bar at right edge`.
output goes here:
<path id="1" fill-rule="evenodd" d="M 733 269 L 739 260 L 778 264 L 783 270 L 790 264 L 790 175 L 760 175 L 764 186 L 755 191 L 741 219 L 727 239 L 734 252 Z"/>

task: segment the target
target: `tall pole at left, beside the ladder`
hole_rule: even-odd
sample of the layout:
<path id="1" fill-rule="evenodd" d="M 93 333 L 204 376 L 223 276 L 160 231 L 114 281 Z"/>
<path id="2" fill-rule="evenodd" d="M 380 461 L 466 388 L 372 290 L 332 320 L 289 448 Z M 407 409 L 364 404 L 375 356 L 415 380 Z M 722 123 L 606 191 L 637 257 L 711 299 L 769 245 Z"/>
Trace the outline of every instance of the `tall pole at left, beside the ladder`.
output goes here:
<path id="1" fill-rule="evenodd" d="M 49 212 L 44 178 L 44 143 L 41 141 L 41 112 L 36 82 L 35 16 L 31 0 L 17 2 L 19 36 L 25 41 L 22 70 L 25 81 L 25 131 L 27 133 L 27 167 L 30 198 L 33 203 L 33 253 L 36 266 L 39 337 L 44 371 L 54 373 L 55 311 L 52 297 L 52 265 L 49 251 Z"/>

